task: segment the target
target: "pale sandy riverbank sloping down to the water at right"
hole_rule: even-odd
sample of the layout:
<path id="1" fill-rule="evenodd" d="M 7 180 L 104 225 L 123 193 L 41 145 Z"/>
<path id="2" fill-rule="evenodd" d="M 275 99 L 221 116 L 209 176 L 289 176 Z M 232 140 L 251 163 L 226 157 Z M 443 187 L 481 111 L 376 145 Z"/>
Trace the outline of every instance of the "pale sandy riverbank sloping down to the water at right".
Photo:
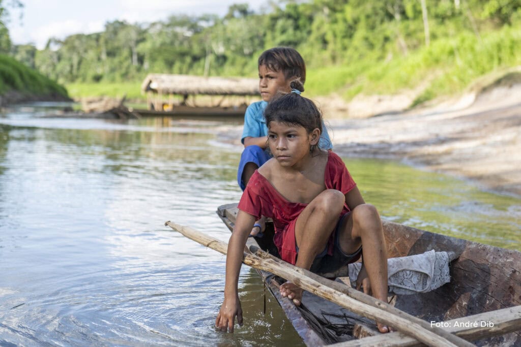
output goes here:
<path id="1" fill-rule="evenodd" d="M 341 155 L 403 160 L 521 196 L 521 84 L 423 110 L 330 118 L 329 125 Z"/>

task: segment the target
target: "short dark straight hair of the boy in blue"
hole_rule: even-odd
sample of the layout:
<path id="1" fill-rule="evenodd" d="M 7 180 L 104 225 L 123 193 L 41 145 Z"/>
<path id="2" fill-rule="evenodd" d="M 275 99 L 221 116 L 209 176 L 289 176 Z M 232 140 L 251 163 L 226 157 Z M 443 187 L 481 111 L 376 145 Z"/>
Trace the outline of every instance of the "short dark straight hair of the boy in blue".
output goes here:
<path id="1" fill-rule="evenodd" d="M 258 60 L 258 66 L 264 65 L 272 71 L 282 71 L 284 77 L 300 79 L 306 82 L 306 64 L 296 49 L 291 47 L 275 47 L 265 50 Z"/>

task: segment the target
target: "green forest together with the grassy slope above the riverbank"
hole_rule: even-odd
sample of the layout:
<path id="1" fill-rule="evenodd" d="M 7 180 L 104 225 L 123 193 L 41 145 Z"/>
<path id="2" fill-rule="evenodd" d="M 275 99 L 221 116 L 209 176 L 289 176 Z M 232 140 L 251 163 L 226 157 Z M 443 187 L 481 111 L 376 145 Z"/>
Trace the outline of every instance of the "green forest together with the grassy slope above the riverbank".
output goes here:
<path id="1" fill-rule="evenodd" d="M 107 22 L 42 50 L 12 45 L 5 17 L 4 8 L 0 53 L 65 85 L 139 86 L 147 73 L 255 77 L 258 55 L 283 45 L 304 57 L 314 95 L 419 88 L 419 103 L 521 65 L 521 0 L 285 0 L 262 12 L 236 4 L 222 18 Z"/>

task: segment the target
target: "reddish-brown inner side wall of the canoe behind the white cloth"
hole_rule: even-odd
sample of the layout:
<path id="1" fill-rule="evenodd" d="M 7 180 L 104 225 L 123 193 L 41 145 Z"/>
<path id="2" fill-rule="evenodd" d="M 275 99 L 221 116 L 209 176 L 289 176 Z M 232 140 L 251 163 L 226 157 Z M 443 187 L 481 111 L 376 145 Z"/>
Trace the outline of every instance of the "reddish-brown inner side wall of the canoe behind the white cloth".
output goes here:
<path id="1" fill-rule="evenodd" d="M 449 320 L 521 305 L 521 252 L 383 222 L 389 258 L 452 251 L 451 281 L 431 292 L 403 295 L 396 307 L 426 320 Z"/>

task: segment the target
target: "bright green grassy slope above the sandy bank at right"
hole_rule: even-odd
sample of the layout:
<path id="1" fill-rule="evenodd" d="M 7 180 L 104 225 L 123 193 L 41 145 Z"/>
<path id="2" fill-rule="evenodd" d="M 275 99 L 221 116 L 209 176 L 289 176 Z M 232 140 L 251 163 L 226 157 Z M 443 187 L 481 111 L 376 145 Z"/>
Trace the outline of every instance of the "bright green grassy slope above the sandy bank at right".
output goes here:
<path id="1" fill-rule="evenodd" d="M 477 36 L 464 32 L 440 38 L 407 56 L 388 61 L 354 61 L 348 66 L 310 67 L 310 95 L 337 93 L 346 100 L 363 93 L 400 94 L 418 89 L 413 105 L 462 93 L 480 76 L 521 65 L 521 25 Z"/>

